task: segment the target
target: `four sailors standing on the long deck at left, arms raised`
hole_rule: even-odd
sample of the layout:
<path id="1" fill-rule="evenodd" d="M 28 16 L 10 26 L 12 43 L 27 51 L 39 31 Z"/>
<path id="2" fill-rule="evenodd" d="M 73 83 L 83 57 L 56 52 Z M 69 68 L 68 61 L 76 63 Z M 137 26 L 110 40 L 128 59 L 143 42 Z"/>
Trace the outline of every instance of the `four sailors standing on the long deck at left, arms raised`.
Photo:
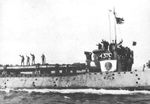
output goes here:
<path id="1" fill-rule="evenodd" d="M 35 65 L 35 55 L 34 54 L 31 54 L 31 65 Z M 25 65 L 24 62 L 25 62 L 25 56 L 24 55 L 19 55 L 21 57 L 21 66 Z M 46 57 L 44 54 L 42 54 L 41 56 L 41 59 L 42 59 L 42 65 L 46 64 Z M 30 57 L 26 55 L 26 65 L 30 65 Z"/>

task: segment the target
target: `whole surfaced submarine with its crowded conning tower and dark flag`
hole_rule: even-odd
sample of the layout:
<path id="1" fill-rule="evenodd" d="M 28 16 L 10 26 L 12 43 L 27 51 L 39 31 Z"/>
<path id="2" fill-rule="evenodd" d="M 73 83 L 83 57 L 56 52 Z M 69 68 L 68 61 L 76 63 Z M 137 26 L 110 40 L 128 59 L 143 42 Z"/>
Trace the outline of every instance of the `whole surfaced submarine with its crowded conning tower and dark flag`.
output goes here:
<path id="1" fill-rule="evenodd" d="M 124 21 L 114 16 L 116 24 Z M 150 62 L 143 69 L 133 69 L 133 50 L 116 40 L 102 40 L 96 50 L 85 51 L 85 63 L 0 65 L 0 89 L 150 90 Z"/>

